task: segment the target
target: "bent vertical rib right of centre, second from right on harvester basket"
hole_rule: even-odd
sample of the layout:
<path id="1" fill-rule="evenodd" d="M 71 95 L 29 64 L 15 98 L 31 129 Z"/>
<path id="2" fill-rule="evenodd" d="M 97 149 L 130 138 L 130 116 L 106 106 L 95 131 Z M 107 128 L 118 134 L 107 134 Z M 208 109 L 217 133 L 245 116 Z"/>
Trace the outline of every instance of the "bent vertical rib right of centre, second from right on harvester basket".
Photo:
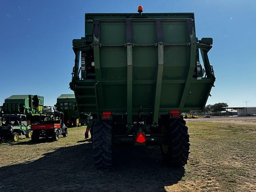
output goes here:
<path id="1" fill-rule="evenodd" d="M 156 20 L 156 32 L 157 32 L 157 41 L 158 41 L 158 69 L 157 69 L 157 77 L 156 77 L 156 94 L 155 94 L 154 115 L 153 115 L 154 127 L 157 127 L 158 125 L 163 70 L 164 70 L 164 43 L 163 43 L 161 20 Z"/>

